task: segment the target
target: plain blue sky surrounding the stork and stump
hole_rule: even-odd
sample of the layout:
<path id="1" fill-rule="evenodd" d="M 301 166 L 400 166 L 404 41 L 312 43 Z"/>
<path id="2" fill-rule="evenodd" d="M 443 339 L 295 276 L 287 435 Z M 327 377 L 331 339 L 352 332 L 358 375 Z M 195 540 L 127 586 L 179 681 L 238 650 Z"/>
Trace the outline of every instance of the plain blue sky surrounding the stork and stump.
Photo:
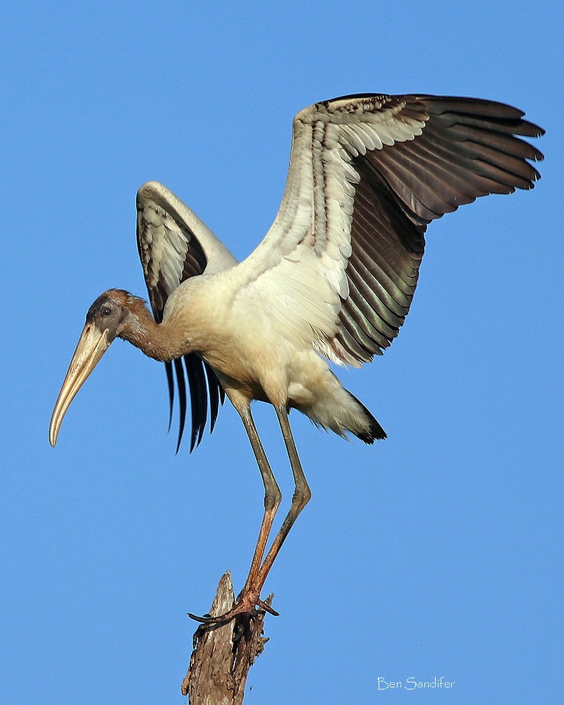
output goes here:
<path id="1" fill-rule="evenodd" d="M 556 2 L 37 4 L 3 11 L 1 692 L 18 705 L 179 705 L 222 572 L 247 573 L 262 485 L 233 409 L 192 455 L 164 369 L 112 346 L 54 450 L 87 308 L 145 295 L 135 191 L 157 179 L 245 257 L 274 219 L 293 115 L 353 92 L 515 104 L 547 135 L 533 192 L 429 228 L 398 340 L 340 374 L 388 431 L 292 415 L 313 498 L 266 584 L 278 618 L 245 703 L 556 702 L 563 605 Z M 286 501 L 274 412 L 259 431 Z"/>

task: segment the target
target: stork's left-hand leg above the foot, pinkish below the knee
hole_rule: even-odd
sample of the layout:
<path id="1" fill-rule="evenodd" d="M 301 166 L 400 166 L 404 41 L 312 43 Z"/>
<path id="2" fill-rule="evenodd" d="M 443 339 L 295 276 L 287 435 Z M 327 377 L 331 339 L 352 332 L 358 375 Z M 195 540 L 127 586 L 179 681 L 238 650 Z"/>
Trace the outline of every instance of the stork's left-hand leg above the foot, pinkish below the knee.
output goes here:
<path id="1" fill-rule="evenodd" d="M 257 575 L 261 565 L 262 557 L 264 556 L 264 549 L 266 548 L 266 542 L 269 539 L 269 535 L 272 528 L 272 522 L 274 522 L 274 516 L 280 505 L 282 494 L 274 473 L 271 470 L 268 458 L 266 458 L 266 453 L 264 453 L 264 448 L 262 447 L 259 434 L 257 432 L 257 427 L 255 426 L 255 421 L 252 418 L 250 406 L 246 405 L 242 409 L 238 409 L 239 415 L 243 420 L 243 425 L 247 431 L 247 436 L 251 442 L 251 447 L 253 453 L 255 453 L 255 458 L 257 460 L 257 465 L 259 466 L 260 474 L 262 477 L 262 482 L 264 484 L 264 515 L 262 517 L 262 524 L 259 531 L 259 537 L 257 539 L 257 545 L 255 546 L 255 553 L 253 553 L 251 567 L 249 570 L 249 575 L 245 582 L 245 587 L 240 593 L 240 596 L 245 594 L 250 594 L 257 583 Z"/>

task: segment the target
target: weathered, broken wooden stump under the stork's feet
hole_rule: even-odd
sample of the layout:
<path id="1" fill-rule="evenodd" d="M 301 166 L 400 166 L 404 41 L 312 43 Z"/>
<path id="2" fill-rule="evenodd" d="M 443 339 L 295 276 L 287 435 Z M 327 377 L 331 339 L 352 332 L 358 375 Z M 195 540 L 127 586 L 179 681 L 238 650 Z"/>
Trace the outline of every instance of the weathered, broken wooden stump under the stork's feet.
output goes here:
<path id="1" fill-rule="evenodd" d="M 266 600 L 271 603 L 272 596 Z M 217 616 L 233 607 L 235 596 L 228 571 L 221 577 L 209 613 Z M 241 705 L 245 682 L 255 658 L 268 641 L 263 636 L 264 612 L 242 616 L 221 627 L 198 627 L 194 650 L 181 691 L 190 705 Z"/>

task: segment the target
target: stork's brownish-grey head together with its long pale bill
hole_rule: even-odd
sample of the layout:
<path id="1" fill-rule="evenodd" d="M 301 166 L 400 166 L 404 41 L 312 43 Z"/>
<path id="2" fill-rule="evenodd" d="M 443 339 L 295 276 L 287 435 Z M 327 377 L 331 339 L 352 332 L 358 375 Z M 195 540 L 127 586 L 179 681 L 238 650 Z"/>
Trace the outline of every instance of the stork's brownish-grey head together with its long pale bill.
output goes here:
<path id="1" fill-rule="evenodd" d="M 86 323 L 80 334 L 75 354 L 56 400 L 49 443 L 55 446 L 66 410 L 71 405 L 87 376 L 96 367 L 111 343 L 120 335 L 129 318 L 130 295 L 121 289 L 109 289 L 94 301 L 86 314 Z"/>

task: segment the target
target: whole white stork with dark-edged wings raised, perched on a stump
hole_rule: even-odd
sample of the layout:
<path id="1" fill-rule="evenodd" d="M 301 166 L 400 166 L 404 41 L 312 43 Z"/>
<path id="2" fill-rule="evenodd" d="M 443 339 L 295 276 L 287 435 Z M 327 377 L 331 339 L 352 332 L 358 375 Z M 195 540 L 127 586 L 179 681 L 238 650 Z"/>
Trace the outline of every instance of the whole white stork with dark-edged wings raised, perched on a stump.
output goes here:
<path id="1" fill-rule="evenodd" d="M 109 289 L 92 304 L 56 400 L 49 441 L 116 338 L 164 362 L 176 387 L 190 451 L 213 431 L 225 397 L 240 415 L 264 484 L 264 513 L 250 570 L 231 610 L 276 611 L 261 599 L 278 551 L 311 491 L 288 414 L 364 443 L 386 432 L 346 390 L 331 363 L 361 367 L 398 335 L 419 276 L 431 221 L 490 193 L 531 189 L 543 159 L 523 137 L 544 134 L 513 106 L 431 94 L 353 94 L 313 104 L 293 120 L 290 166 L 278 214 L 238 262 L 176 195 L 157 181 L 137 192 L 137 249 L 151 305 Z M 295 490 L 271 540 L 281 491 L 251 413 L 271 404 Z M 208 412 L 209 407 L 209 412 Z"/>

